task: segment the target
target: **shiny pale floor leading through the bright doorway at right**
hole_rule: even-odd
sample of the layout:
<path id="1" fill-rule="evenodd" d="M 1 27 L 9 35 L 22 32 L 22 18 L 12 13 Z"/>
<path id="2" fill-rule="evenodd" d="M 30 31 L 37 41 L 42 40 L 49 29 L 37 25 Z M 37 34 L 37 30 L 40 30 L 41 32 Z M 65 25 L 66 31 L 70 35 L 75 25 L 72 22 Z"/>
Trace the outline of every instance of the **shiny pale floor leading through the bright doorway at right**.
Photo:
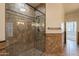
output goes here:
<path id="1" fill-rule="evenodd" d="M 75 32 L 67 32 L 66 37 L 66 46 L 65 46 L 65 54 L 67 56 L 78 56 L 79 55 L 79 46 L 76 41 L 76 33 Z"/>

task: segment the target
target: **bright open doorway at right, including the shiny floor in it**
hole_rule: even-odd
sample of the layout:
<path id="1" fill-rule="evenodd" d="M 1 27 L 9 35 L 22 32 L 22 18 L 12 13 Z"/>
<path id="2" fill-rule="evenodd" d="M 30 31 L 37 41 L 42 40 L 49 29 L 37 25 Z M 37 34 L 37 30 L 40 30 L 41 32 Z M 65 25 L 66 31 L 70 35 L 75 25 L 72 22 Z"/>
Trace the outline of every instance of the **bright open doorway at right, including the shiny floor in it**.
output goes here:
<path id="1" fill-rule="evenodd" d="M 77 22 L 66 22 L 66 54 L 77 54 Z"/>

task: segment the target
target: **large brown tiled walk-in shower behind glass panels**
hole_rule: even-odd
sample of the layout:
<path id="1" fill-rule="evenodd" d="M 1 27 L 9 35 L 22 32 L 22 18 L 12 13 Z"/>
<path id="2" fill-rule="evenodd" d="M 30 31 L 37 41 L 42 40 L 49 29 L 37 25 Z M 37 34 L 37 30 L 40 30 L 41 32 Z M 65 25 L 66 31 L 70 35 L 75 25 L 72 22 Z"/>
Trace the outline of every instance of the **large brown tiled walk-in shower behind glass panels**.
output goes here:
<path id="1" fill-rule="evenodd" d="M 5 12 L 7 55 L 43 55 L 45 14 L 27 3 L 6 3 Z"/>

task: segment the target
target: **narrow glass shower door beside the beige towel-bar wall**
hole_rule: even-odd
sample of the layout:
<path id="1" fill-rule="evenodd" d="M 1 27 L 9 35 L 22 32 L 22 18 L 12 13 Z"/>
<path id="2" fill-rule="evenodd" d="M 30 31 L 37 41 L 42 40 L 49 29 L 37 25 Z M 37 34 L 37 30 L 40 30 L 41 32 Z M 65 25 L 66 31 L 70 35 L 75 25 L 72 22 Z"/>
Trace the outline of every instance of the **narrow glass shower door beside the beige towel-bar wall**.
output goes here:
<path id="1" fill-rule="evenodd" d="M 45 16 L 36 17 L 35 48 L 45 50 Z"/>

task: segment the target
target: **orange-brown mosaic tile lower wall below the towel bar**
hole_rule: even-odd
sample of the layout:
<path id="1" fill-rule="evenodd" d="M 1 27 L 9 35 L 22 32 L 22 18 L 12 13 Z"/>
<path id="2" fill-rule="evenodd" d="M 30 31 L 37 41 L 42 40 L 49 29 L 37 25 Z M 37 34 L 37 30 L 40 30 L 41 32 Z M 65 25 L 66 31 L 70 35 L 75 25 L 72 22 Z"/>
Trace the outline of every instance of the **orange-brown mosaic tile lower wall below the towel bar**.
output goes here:
<path id="1" fill-rule="evenodd" d="M 47 55 L 61 55 L 62 48 L 62 34 L 46 34 L 46 52 Z"/>

